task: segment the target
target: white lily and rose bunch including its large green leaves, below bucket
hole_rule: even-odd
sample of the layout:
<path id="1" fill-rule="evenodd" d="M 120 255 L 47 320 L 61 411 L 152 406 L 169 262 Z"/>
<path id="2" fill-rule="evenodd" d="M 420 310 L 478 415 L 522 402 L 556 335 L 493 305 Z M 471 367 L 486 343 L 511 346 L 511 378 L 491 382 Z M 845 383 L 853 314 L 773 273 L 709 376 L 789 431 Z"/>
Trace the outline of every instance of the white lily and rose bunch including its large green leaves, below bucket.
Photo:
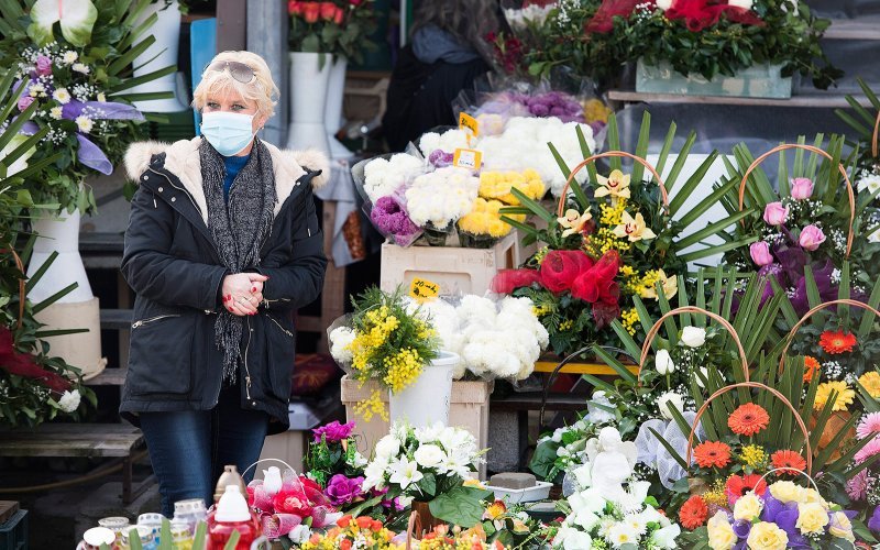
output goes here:
<path id="1" fill-rule="evenodd" d="M 440 422 L 416 429 L 395 422 L 376 442 L 363 490 L 387 488 L 384 498 L 404 507 L 414 501 L 428 503 L 436 518 L 468 529 L 482 519 L 480 502 L 491 494 L 463 485 L 483 452 L 468 430 Z"/>

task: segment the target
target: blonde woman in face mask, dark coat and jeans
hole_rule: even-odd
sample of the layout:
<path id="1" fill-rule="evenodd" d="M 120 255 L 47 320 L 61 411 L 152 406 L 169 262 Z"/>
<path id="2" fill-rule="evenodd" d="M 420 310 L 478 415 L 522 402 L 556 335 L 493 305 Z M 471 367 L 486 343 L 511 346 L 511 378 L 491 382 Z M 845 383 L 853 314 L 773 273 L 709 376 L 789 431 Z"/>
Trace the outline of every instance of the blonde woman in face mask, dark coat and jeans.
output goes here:
<path id="1" fill-rule="evenodd" d="M 202 136 L 125 155 L 138 297 L 120 413 L 144 432 L 168 517 L 176 501 L 210 505 L 223 465 L 243 472 L 288 427 L 293 312 L 327 266 L 312 187 L 328 166 L 256 138 L 277 95 L 260 56 L 223 52 L 193 94 Z"/>

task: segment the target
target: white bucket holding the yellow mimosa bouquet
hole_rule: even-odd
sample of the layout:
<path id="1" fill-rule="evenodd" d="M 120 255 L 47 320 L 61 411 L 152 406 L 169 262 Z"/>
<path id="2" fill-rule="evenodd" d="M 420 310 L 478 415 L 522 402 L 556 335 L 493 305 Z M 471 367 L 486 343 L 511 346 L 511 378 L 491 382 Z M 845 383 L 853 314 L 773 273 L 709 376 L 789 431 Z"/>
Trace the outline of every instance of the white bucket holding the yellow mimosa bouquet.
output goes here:
<path id="1" fill-rule="evenodd" d="M 426 365 L 416 382 L 404 391 L 391 394 L 391 421 L 406 420 L 413 427 L 449 424 L 449 403 L 452 398 L 452 372 L 460 358 L 441 351 L 440 356 Z"/>

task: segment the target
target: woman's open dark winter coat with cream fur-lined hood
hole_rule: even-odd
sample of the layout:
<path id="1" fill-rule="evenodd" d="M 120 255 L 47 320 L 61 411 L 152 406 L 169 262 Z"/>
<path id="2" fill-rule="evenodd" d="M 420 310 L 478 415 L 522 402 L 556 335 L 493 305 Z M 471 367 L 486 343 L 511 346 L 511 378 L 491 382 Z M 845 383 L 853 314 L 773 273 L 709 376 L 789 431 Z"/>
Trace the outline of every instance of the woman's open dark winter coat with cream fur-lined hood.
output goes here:
<path id="1" fill-rule="evenodd" d="M 120 413 L 134 424 L 138 413 L 211 409 L 220 394 L 222 351 L 215 343 L 215 320 L 230 273 L 208 230 L 200 141 L 136 143 L 125 155 L 139 188 L 122 274 L 136 299 Z M 289 425 L 293 314 L 314 301 L 323 284 L 327 258 L 312 188 L 326 182 L 329 167 L 320 153 L 266 146 L 278 202 L 260 265 L 245 271 L 270 278 L 258 314 L 244 318 L 238 377 L 242 408 L 267 413 L 275 433 Z"/>

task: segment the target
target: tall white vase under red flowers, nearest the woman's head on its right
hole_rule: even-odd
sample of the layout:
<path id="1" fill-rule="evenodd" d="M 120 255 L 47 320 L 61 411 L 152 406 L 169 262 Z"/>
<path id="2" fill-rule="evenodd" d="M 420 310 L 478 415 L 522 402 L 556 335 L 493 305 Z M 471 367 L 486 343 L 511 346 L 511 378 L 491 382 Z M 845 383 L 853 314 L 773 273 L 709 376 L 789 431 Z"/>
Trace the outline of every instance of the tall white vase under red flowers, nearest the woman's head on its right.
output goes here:
<path id="1" fill-rule="evenodd" d="M 330 54 L 290 52 L 290 127 L 288 148 L 330 153 L 324 127 Z"/>

